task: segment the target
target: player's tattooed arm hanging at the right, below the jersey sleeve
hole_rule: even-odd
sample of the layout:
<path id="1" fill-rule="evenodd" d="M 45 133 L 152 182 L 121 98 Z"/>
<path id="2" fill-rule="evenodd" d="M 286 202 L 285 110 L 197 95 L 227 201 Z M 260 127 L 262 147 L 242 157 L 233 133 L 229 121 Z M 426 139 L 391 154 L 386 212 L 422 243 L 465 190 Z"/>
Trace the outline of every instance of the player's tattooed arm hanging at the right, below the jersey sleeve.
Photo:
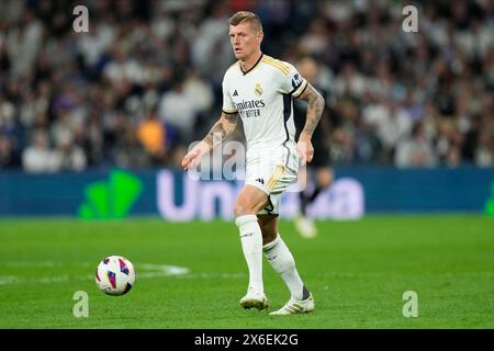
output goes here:
<path id="1" fill-rule="evenodd" d="M 311 162 L 314 157 L 314 147 L 312 146 L 312 134 L 319 122 L 323 114 L 325 101 L 321 93 L 314 89 L 308 82 L 304 92 L 297 98 L 307 102 L 307 112 L 305 116 L 305 125 L 299 137 L 299 150 L 303 161 Z"/>

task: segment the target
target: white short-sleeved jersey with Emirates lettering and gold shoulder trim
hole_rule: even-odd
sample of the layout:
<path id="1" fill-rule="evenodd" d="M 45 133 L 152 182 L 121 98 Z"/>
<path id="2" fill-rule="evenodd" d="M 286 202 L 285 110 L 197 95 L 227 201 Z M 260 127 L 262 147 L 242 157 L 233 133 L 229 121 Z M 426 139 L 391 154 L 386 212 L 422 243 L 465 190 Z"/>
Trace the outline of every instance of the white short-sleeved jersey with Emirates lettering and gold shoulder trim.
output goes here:
<path id="1" fill-rule="evenodd" d="M 261 54 L 248 71 L 240 61 L 223 79 L 223 112 L 238 113 L 247 140 L 247 160 L 294 143 L 293 98 L 307 87 L 289 63 Z"/>

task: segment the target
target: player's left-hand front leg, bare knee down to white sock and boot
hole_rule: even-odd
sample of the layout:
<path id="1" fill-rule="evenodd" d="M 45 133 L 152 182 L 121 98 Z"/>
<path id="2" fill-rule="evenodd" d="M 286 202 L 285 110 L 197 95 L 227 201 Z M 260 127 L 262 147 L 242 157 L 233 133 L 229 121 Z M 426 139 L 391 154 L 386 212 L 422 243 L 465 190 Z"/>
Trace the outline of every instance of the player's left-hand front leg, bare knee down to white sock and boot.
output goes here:
<path id="1" fill-rule="evenodd" d="M 267 202 L 268 195 L 249 184 L 244 186 L 235 202 L 235 224 L 240 231 L 242 249 L 249 270 L 247 294 L 240 299 L 245 308 L 268 307 L 262 283 L 262 234 L 256 216 Z"/>

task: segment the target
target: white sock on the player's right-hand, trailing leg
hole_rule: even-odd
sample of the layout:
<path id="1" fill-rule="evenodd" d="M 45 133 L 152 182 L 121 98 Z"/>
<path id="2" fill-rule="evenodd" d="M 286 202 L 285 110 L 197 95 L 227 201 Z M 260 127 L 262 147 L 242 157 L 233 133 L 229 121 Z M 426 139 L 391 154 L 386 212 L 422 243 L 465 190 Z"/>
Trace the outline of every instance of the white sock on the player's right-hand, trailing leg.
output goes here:
<path id="1" fill-rule="evenodd" d="M 262 251 L 274 271 L 283 279 L 292 296 L 296 299 L 303 299 L 304 283 L 296 271 L 292 252 L 281 239 L 280 234 L 274 240 L 266 244 Z"/>

